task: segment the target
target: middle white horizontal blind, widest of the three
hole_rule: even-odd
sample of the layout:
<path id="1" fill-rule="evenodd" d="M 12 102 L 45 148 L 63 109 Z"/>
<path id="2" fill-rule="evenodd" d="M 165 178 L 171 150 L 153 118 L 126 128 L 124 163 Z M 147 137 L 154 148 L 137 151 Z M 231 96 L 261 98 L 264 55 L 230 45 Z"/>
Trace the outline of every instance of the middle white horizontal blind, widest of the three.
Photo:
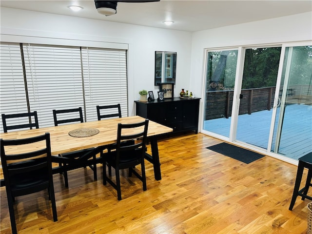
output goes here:
<path id="1" fill-rule="evenodd" d="M 29 104 L 39 127 L 54 125 L 53 109 L 83 109 L 79 47 L 23 44 L 23 50 Z"/>

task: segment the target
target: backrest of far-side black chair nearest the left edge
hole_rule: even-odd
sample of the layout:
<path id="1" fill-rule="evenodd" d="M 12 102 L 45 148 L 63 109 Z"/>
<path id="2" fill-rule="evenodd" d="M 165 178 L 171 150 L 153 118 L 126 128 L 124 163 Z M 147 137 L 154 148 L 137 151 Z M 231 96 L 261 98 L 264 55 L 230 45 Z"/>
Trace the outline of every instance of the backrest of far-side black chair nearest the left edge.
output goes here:
<path id="1" fill-rule="evenodd" d="M 32 129 L 33 127 L 39 128 L 37 111 L 30 112 L 30 113 L 21 113 L 21 114 L 9 114 L 9 115 L 2 114 L 1 116 L 2 116 L 2 123 L 3 123 L 3 132 L 5 133 L 7 133 L 8 130 L 12 130 L 12 129 L 21 129 L 21 128 Z M 7 123 L 7 120 L 11 118 L 18 118 L 19 122 L 22 122 L 22 123 L 9 126 L 8 125 L 9 123 Z M 10 122 L 10 120 L 8 122 Z"/>

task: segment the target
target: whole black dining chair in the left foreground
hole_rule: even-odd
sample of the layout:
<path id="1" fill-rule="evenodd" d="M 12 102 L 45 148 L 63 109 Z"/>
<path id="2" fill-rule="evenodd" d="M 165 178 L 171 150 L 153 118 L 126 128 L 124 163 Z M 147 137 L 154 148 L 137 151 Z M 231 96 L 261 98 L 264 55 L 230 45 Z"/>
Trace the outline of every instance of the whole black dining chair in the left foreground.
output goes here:
<path id="1" fill-rule="evenodd" d="M 43 142 L 33 147 L 31 143 Z M 0 139 L 0 156 L 5 180 L 12 233 L 17 234 L 14 201 L 16 196 L 37 193 L 47 189 L 52 204 L 53 220 L 58 221 L 54 195 L 50 134 L 15 140 Z M 25 153 L 10 154 L 6 146 L 19 147 Z"/>

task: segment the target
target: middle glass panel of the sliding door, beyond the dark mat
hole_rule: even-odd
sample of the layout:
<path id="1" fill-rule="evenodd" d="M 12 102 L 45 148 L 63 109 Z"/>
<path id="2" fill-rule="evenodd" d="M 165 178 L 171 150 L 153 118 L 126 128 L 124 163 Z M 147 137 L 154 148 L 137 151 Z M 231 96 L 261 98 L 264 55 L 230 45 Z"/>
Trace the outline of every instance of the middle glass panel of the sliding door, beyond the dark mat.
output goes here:
<path id="1" fill-rule="evenodd" d="M 236 140 L 267 149 L 281 47 L 246 49 Z"/>

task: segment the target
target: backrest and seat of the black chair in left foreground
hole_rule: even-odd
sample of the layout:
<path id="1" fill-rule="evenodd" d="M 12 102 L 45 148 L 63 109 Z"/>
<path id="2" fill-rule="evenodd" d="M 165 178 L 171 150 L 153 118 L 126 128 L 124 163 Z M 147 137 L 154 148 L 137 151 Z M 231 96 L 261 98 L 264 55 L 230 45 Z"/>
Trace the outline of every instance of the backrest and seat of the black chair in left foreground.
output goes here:
<path id="1" fill-rule="evenodd" d="M 6 150 L 8 150 L 8 148 L 6 147 L 22 149 L 25 153 L 7 154 Z M 13 196 L 34 193 L 34 188 L 31 186 L 32 177 L 36 179 L 36 181 L 40 178 L 43 183 L 44 180 L 52 181 L 49 133 L 24 139 L 0 139 L 0 156 L 5 186 L 7 190 L 12 192 Z M 12 190 L 13 187 L 11 187 L 13 184 L 23 184 L 25 187 L 29 184 L 29 191 L 27 191 L 27 189 L 21 191 L 18 186 L 15 186 L 16 191 L 14 192 Z"/>

